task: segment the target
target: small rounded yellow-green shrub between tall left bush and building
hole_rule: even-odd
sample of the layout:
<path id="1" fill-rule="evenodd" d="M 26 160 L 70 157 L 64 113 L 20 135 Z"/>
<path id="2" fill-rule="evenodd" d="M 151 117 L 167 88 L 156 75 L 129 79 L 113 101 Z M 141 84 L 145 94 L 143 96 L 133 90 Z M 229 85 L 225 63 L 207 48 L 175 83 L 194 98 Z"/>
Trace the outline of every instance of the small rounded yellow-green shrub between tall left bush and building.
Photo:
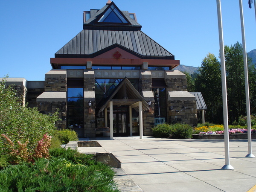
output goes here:
<path id="1" fill-rule="evenodd" d="M 70 141 L 78 140 L 78 134 L 76 133 L 76 131 L 70 129 L 55 131 L 53 137 L 57 137 L 61 141 L 61 144 L 67 144 Z"/>

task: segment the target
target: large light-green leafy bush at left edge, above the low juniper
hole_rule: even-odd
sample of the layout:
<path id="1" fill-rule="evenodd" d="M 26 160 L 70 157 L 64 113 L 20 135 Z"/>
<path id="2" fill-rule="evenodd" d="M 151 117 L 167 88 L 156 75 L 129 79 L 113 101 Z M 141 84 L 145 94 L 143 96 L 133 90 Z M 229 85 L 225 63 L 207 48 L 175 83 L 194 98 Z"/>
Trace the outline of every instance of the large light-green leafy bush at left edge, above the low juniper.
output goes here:
<path id="1" fill-rule="evenodd" d="M 58 112 L 45 115 L 37 108 L 27 108 L 16 93 L 12 86 L 6 86 L 5 79 L 0 82 L 0 156 L 3 157 L 12 151 L 1 134 L 13 142 L 15 149 L 19 148 L 18 142 L 27 143 L 28 152 L 32 153 L 44 134 L 52 135 L 58 120 Z"/>

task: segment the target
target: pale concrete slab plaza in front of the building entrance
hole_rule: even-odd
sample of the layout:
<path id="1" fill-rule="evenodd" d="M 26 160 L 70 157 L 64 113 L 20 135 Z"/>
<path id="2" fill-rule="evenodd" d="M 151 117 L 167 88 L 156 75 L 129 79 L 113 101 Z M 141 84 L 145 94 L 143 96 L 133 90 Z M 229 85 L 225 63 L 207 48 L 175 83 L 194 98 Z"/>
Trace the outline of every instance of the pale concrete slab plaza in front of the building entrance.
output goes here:
<path id="1" fill-rule="evenodd" d="M 111 152 L 122 162 L 118 177 L 131 179 L 140 188 L 130 191 L 256 191 L 256 158 L 248 154 L 247 140 L 230 140 L 230 165 L 225 165 L 224 140 L 175 140 L 154 137 L 96 138 L 102 147 L 78 148 L 81 152 Z M 256 139 L 252 140 L 256 155 Z M 122 176 L 123 175 L 123 176 Z M 122 190 L 122 191 L 125 191 Z"/>

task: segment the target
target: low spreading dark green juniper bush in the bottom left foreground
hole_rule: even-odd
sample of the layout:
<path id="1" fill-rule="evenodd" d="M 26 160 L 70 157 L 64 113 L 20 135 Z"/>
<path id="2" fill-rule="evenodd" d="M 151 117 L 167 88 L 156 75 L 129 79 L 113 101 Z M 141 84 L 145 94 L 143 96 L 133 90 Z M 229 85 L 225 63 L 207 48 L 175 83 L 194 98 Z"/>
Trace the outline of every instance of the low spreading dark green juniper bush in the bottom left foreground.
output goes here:
<path id="1" fill-rule="evenodd" d="M 109 166 L 95 161 L 89 164 L 91 166 L 51 157 L 10 166 L 0 171 L 0 189 L 8 192 L 118 191 Z"/>

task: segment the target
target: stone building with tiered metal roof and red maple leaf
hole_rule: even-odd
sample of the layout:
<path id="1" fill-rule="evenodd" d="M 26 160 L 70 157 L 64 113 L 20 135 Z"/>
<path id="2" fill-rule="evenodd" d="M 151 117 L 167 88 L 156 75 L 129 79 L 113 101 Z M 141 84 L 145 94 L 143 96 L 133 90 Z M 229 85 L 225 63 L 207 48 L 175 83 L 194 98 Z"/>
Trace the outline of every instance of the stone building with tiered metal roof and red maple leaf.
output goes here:
<path id="1" fill-rule="evenodd" d="M 9 78 L 29 107 L 59 109 L 58 128 L 79 137 L 151 135 L 159 123 L 197 124 L 195 96 L 174 55 L 141 31 L 135 13 L 108 1 L 84 12 L 83 29 L 50 58 L 45 81 Z"/>

